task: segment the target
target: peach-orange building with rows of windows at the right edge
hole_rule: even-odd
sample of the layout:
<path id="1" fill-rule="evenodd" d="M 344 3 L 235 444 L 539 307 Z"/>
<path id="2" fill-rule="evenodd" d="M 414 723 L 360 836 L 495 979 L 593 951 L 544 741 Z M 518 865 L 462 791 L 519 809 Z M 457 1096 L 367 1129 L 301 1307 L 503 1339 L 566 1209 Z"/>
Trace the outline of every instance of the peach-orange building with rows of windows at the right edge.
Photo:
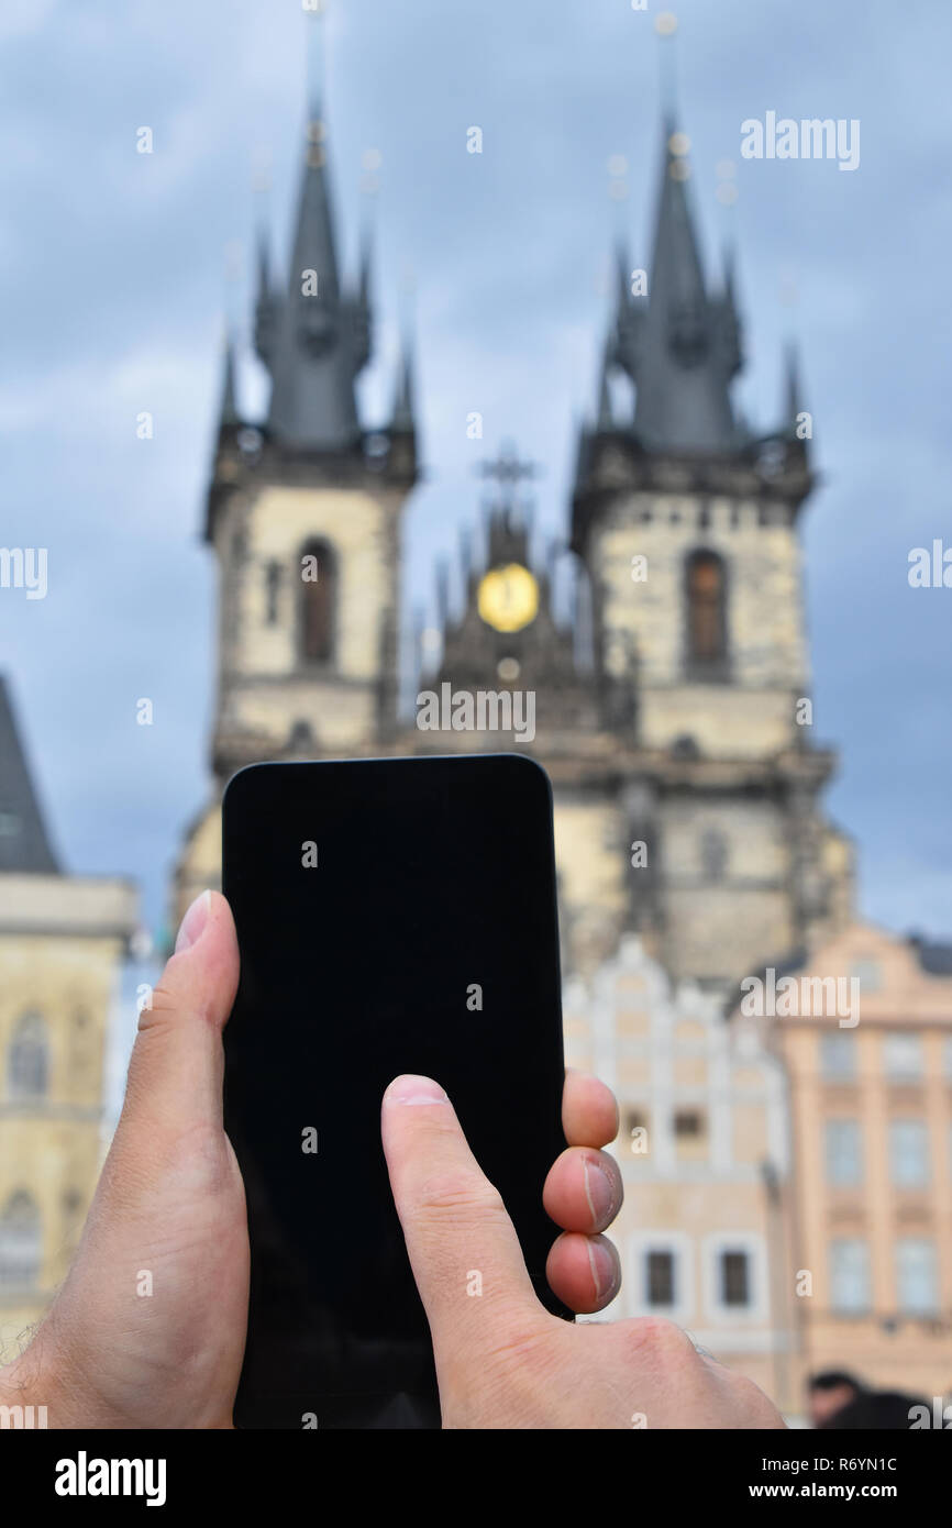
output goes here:
<path id="1" fill-rule="evenodd" d="M 793 1259 L 782 1279 L 796 1291 L 804 1368 L 946 1395 L 952 947 L 854 923 L 775 983 L 778 1013 L 743 1019 L 738 1008 L 732 1022 L 759 1024 L 790 1082 Z"/>

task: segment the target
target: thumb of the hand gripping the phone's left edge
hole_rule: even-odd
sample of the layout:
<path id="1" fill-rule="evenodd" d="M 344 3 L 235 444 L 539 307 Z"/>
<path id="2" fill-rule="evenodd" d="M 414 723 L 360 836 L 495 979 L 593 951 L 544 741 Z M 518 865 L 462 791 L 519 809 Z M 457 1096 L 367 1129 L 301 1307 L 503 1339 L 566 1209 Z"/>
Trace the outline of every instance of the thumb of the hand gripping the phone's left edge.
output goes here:
<path id="1" fill-rule="evenodd" d="M 222 1128 L 222 1030 L 238 986 L 238 941 L 225 897 L 203 891 L 179 929 L 151 1002 L 139 1015 L 116 1128 L 154 1144 L 196 1126 Z M 153 1134 L 154 1132 L 154 1134 Z"/>

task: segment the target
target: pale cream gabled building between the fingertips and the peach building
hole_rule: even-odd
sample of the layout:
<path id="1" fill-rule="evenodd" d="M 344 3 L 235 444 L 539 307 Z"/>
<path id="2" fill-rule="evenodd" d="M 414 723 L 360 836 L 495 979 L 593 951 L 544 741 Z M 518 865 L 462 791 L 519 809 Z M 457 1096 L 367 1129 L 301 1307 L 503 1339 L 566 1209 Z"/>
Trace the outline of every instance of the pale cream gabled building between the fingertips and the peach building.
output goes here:
<path id="1" fill-rule="evenodd" d="M 605 1313 L 665 1316 L 799 1409 L 784 1068 L 692 983 L 672 989 L 634 937 L 565 986 L 567 1063 L 616 1093 L 622 1291 Z"/>

